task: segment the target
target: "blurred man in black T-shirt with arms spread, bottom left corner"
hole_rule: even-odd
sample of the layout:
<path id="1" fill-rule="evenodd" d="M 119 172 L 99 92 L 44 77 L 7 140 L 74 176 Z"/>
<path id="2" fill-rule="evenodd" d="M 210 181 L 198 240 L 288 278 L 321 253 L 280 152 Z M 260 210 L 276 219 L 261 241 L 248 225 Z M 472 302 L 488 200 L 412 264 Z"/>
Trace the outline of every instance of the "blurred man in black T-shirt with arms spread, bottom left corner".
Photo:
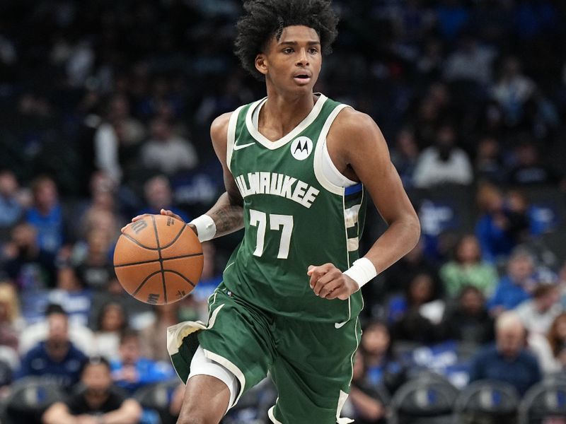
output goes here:
<path id="1" fill-rule="evenodd" d="M 137 424 L 141 406 L 112 384 L 110 364 L 91 358 L 81 370 L 81 386 L 43 413 L 44 424 Z"/>

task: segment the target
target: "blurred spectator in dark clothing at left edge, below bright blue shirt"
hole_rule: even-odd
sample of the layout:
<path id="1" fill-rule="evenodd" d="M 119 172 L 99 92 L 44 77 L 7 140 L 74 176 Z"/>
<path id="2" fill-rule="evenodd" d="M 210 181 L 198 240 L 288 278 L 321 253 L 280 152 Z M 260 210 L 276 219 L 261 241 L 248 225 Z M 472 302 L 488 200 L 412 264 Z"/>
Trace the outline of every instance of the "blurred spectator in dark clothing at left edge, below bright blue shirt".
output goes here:
<path id="1" fill-rule="evenodd" d="M 10 242 L 4 246 L 4 260 L 4 271 L 19 290 L 54 286 L 54 254 L 37 245 L 37 230 L 32 225 L 16 225 Z"/>

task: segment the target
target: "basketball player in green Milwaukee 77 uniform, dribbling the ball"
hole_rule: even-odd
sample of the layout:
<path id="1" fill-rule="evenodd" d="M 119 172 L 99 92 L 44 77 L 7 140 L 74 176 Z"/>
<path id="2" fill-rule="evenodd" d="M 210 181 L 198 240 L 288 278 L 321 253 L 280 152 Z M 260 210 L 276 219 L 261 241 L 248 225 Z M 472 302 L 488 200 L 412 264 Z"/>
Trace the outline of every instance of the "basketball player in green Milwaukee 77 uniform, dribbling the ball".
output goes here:
<path id="1" fill-rule="evenodd" d="M 168 329 L 188 379 L 178 423 L 219 423 L 268 372 L 279 392 L 272 423 L 350 423 L 340 411 L 361 335 L 359 289 L 415 246 L 420 225 L 374 121 L 313 93 L 337 34 L 330 0 L 245 8 L 236 53 L 267 97 L 212 124 L 226 193 L 189 225 L 201 241 L 245 232 L 208 323 Z M 368 196 L 388 229 L 360 259 Z"/>

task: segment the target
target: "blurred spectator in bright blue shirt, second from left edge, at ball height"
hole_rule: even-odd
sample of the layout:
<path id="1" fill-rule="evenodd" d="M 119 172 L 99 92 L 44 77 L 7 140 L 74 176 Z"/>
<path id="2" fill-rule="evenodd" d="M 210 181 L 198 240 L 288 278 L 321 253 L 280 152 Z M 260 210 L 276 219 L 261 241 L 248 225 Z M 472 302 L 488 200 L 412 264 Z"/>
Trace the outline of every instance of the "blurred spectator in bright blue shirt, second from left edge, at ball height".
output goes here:
<path id="1" fill-rule="evenodd" d="M 33 206 L 27 211 L 25 219 L 37 228 L 37 245 L 40 249 L 55 254 L 65 238 L 57 184 L 45 175 L 37 177 L 32 183 L 32 192 Z"/>

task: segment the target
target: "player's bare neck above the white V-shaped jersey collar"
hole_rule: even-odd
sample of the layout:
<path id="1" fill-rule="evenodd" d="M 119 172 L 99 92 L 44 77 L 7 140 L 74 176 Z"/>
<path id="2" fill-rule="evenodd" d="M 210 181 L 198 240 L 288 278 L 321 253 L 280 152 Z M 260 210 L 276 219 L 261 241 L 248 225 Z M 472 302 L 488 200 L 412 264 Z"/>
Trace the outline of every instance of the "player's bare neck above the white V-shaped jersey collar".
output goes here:
<path id="1" fill-rule="evenodd" d="M 260 131 L 270 133 L 269 139 L 280 139 L 299 125 L 311 110 L 316 98 L 313 93 L 285 95 L 267 87 L 267 102 L 260 111 Z M 275 132 L 275 135 L 272 135 Z"/>

